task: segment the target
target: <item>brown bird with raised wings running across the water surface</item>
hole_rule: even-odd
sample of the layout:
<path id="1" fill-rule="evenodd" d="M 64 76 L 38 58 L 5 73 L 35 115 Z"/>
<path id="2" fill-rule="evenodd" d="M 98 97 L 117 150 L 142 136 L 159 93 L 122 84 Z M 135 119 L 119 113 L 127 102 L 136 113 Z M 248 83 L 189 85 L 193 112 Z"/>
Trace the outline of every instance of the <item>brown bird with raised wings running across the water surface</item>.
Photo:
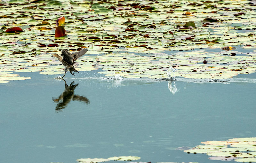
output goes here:
<path id="1" fill-rule="evenodd" d="M 74 72 L 79 73 L 75 67 L 73 66 L 74 63 L 76 63 L 75 61 L 79 58 L 82 57 L 86 52 L 88 51 L 88 49 L 82 49 L 80 51 L 74 52 L 72 54 L 70 54 L 68 49 L 63 49 L 61 50 L 61 56 L 59 56 L 58 54 L 54 53 L 52 55 L 52 57 L 56 57 L 58 58 L 58 60 L 62 63 L 62 65 L 64 66 L 64 71 L 65 74 L 61 77 L 61 79 L 66 75 L 67 71 L 70 71 L 70 73 L 72 75 L 75 75 Z"/>

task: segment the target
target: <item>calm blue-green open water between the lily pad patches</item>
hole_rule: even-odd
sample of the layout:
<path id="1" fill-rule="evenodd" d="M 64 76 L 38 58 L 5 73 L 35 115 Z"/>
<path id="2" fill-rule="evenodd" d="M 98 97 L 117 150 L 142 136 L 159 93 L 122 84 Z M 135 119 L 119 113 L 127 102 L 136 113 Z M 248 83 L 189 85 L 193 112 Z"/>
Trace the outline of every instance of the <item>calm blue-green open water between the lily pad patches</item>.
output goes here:
<path id="1" fill-rule="evenodd" d="M 26 76 L 32 79 L 0 85 L 0 162 L 132 155 L 152 163 L 218 163 L 175 148 L 256 136 L 255 74 L 224 84 L 83 79 L 88 74 L 81 72 L 67 74 L 68 86 L 78 84 L 73 90 L 54 75 Z"/>

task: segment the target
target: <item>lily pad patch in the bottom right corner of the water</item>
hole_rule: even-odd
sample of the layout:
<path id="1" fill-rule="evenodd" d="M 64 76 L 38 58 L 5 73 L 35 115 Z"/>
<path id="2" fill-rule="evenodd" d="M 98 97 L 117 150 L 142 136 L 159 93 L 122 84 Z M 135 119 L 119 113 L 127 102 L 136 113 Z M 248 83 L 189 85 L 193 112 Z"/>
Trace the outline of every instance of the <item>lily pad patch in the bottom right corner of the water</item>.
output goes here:
<path id="1" fill-rule="evenodd" d="M 256 162 L 256 137 L 233 138 L 227 141 L 201 142 L 187 153 L 206 153 L 209 159 L 236 162 Z"/>

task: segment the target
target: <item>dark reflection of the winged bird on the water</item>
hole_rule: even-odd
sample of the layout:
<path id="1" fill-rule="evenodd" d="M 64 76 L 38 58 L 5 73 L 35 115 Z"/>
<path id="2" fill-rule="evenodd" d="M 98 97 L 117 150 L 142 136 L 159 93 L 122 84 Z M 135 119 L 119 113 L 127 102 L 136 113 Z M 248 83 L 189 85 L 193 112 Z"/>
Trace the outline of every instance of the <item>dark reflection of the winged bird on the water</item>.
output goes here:
<path id="1" fill-rule="evenodd" d="M 64 80 L 64 79 L 62 79 L 62 80 Z M 66 83 L 65 80 L 64 80 L 64 82 L 65 82 L 65 90 L 63 91 L 63 93 L 60 94 L 59 97 L 55 97 L 55 98 L 52 97 L 52 101 L 54 101 L 55 103 L 58 103 L 55 108 L 56 112 L 59 112 L 59 111 L 62 111 L 63 109 L 65 109 L 65 107 L 68 105 L 68 103 L 71 100 L 81 101 L 87 105 L 90 104 L 90 100 L 88 98 L 86 98 L 84 96 L 74 95 L 75 89 L 78 86 L 78 83 L 74 84 L 74 81 L 73 81 L 68 86 L 68 84 Z"/>

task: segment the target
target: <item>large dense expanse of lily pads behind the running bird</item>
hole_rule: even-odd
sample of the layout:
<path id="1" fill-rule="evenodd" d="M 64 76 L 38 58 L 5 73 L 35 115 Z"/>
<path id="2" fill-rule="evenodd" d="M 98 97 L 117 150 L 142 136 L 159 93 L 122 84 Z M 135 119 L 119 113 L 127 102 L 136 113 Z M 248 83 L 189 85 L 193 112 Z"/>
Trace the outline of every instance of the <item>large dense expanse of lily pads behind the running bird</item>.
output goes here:
<path id="1" fill-rule="evenodd" d="M 166 78 L 170 67 L 185 78 L 254 73 L 255 9 L 246 0 L 3 1 L 0 81 L 21 80 L 8 77 L 15 72 L 62 74 L 51 55 L 90 45 L 91 55 L 75 65 L 78 71 L 100 68 L 107 76 L 156 79 Z M 55 37 L 60 18 L 65 36 Z M 234 46 L 251 52 L 238 53 Z"/>

